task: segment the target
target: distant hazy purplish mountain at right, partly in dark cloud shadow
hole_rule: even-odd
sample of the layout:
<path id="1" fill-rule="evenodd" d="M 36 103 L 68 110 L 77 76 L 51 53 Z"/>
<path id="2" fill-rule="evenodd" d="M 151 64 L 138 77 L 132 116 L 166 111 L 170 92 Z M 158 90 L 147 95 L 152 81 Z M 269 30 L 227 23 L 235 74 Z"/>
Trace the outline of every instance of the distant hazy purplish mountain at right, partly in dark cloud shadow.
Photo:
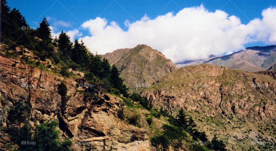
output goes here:
<path id="1" fill-rule="evenodd" d="M 276 45 L 271 45 L 248 47 L 246 50 L 240 50 L 225 56 L 210 56 L 206 60 L 187 61 L 178 64 L 178 66 L 208 63 L 225 66 L 230 69 L 257 72 L 269 69 L 275 62 Z"/>

